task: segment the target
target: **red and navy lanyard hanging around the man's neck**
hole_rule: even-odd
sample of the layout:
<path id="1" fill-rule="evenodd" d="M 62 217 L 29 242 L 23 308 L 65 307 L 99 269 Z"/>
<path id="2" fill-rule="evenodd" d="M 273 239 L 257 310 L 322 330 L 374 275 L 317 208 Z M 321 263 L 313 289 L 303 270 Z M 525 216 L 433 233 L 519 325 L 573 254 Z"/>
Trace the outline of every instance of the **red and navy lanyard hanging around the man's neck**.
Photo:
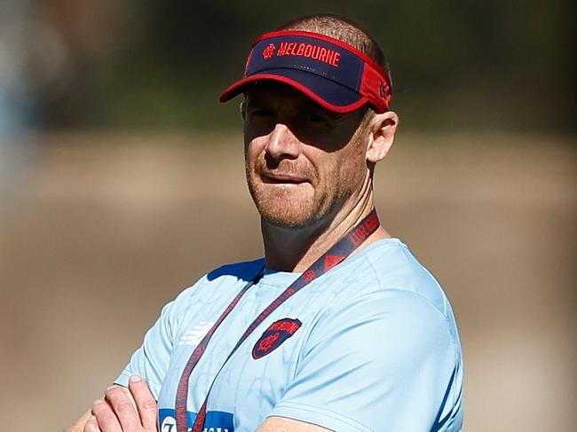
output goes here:
<path id="1" fill-rule="evenodd" d="M 247 330 L 242 334 L 241 339 L 239 342 L 234 345 L 233 350 L 228 354 L 225 359 L 226 362 L 233 356 L 234 352 L 241 346 L 242 342 L 246 341 L 249 338 L 249 335 L 255 331 L 257 326 L 259 326 L 265 319 L 273 313 L 281 304 L 288 300 L 288 298 L 298 292 L 300 289 L 307 286 L 312 280 L 319 278 L 321 275 L 332 269 L 336 264 L 341 263 L 347 256 L 351 255 L 352 252 L 360 246 L 360 244 L 367 240 L 368 236 L 370 236 L 376 229 L 379 227 L 379 218 L 376 216 L 375 209 L 373 209 L 367 217 L 365 217 L 359 224 L 357 224 L 350 232 L 348 232 L 343 239 L 336 242 L 336 244 L 328 249 L 325 254 L 320 256 L 320 258 L 312 263 L 312 265 L 304 271 L 302 275 L 298 277 L 298 279 L 293 282 L 293 284 L 288 287 L 287 289 L 282 292 L 271 304 L 269 304 L 265 310 L 263 310 L 257 318 L 250 324 Z M 188 395 L 188 381 L 190 380 L 190 375 L 194 370 L 194 366 L 198 364 L 199 360 L 201 359 L 202 355 L 206 351 L 206 348 L 209 344 L 210 338 L 212 334 L 215 333 L 218 326 L 222 324 L 231 310 L 234 309 L 234 306 L 241 300 L 242 295 L 244 295 L 248 290 L 249 287 L 252 287 L 258 279 L 260 279 L 263 275 L 263 271 L 265 269 L 261 269 L 257 276 L 252 279 L 245 287 L 241 289 L 239 294 L 234 297 L 233 301 L 226 307 L 223 313 L 218 317 L 217 322 L 210 328 L 209 332 L 202 338 L 202 341 L 198 344 L 198 346 L 194 349 L 193 354 L 186 362 L 185 369 L 180 375 L 180 380 L 178 381 L 178 388 L 177 388 L 177 398 L 176 398 L 176 416 L 177 416 L 177 432 L 187 432 L 187 422 L 186 422 L 186 399 Z M 222 368 L 221 368 L 222 370 Z M 216 381 L 213 380 L 214 383 Z M 210 389 L 212 386 L 210 386 Z M 196 420 L 194 421 L 194 426 L 192 432 L 202 432 L 202 428 L 204 428 L 204 420 L 206 418 L 206 408 L 207 402 L 209 400 L 209 392 L 207 396 L 204 398 L 204 402 L 202 403 L 201 409 L 199 410 Z"/>

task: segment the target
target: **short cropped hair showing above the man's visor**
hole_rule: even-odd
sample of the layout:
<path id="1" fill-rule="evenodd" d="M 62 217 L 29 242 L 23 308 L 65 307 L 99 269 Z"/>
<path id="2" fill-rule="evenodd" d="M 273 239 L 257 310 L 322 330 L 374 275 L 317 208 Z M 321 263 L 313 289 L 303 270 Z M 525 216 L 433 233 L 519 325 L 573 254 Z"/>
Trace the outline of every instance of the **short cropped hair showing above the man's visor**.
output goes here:
<path id="1" fill-rule="evenodd" d="M 391 76 L 389 63 L 379 44 L 367 30 L 353 20 L 332 13 L 315 13 L 290 20 L 277 30 L 309 31 L 348 43 L 374 59 L 387 75 Z"/>

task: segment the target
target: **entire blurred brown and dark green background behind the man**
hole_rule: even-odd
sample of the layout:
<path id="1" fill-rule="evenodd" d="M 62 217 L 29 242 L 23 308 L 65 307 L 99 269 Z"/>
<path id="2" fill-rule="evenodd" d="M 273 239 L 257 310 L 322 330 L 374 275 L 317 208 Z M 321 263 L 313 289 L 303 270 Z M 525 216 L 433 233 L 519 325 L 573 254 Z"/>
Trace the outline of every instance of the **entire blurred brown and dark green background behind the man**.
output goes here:
<path id="1" fill-rule="evenodd" d="M 453 302 L 464 429 L 575 430 L 573 3 L 0 0 L 5 430 L 69 426 L 162 304 L 262 255 L 217 95 L 257 35 L 312 12 L 391 61 L 377 208 Z"/>

